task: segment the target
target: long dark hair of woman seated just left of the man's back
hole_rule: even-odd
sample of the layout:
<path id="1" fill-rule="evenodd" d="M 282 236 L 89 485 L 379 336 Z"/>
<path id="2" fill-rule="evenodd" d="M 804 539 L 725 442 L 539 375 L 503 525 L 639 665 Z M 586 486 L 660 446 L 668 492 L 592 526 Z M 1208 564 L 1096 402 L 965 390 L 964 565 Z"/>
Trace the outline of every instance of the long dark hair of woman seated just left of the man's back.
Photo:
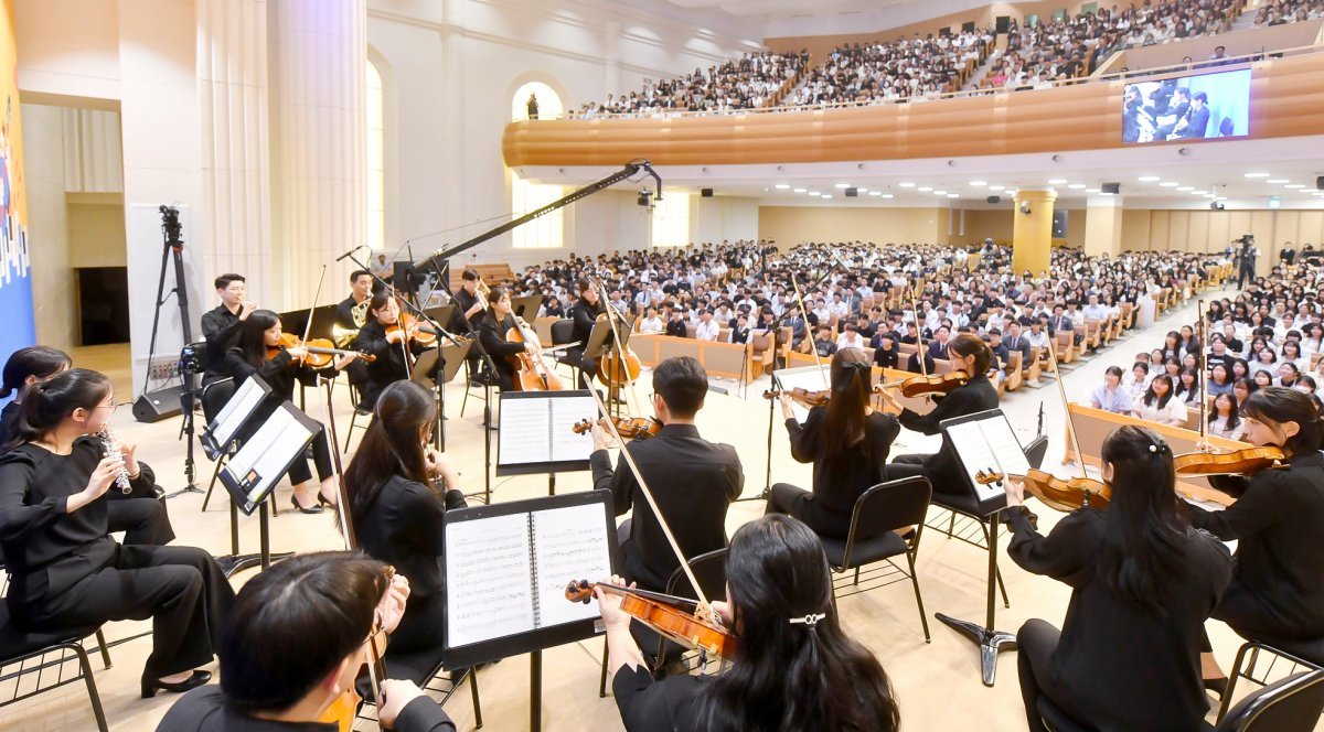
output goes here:
<path id="1" fill-rule="evenodd" d="M 424 425 L 437 418 L 432 392 L 416 381 L 396 381 L 381 390 L 373 412 L 372 424 L 344 471 L 350 516 L 356 522 L 363 520 L 392 475 L 432 486 L 420 437 Z"/>

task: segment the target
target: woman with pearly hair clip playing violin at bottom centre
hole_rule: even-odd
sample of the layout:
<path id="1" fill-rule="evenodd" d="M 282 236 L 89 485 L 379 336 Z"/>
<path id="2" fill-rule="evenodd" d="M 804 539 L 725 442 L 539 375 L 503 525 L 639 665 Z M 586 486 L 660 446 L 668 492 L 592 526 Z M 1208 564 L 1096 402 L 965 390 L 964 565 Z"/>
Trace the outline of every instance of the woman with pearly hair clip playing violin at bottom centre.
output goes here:
<path id="1" fill-rule="evenodd" d="M 883 667 L 841 629 L 822 544 L 792 518 L 763 516 L 731 540 L 727 601 L 714 605 L 739 643 L 720 675 L 654 682 L 620 596 L 594 593 L 616 704 L 630 732 L 891 732 L 900 725 Z"/>

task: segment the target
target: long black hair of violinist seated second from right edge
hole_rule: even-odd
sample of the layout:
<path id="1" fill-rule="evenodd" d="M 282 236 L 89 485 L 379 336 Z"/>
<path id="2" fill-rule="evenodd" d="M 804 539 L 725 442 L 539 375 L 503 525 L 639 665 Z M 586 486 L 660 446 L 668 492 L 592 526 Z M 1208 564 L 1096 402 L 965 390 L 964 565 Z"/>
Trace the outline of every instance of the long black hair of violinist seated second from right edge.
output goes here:
<path id="1" fill-rule="evenodd" d="M 1112 498 L 1099 574 L 1132 605 L 1162 616 L 1168 586 L 1185 571 L 1178 551 L 1190 532 L 1176 494 L 1172 449 L 1149 428 L 1125 425 L 1103 441 Z"/>

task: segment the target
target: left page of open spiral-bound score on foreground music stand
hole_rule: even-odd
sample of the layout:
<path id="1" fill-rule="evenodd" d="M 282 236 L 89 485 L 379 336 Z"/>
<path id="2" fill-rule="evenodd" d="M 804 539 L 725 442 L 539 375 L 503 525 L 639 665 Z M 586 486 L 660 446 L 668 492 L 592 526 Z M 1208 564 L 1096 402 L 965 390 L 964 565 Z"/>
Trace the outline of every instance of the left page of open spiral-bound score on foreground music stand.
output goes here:
<path id="1" fill-rule="evenodd" d="M 528 514 L 446 527 L 446 642 L 467 646 L 534 630 Z"/>

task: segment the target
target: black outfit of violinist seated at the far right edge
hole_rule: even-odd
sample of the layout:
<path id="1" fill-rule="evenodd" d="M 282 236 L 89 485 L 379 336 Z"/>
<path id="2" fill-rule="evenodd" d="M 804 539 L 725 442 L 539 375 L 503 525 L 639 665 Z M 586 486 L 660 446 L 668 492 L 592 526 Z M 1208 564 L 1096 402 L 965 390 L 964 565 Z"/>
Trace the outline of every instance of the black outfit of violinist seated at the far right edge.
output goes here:
<path id="1" fill-rule="evenodd" d="M 1196 527 L 1237 540 L 1237 572 L 1214 617 L 1247 638 L 1324 638 L 1324 455 L 1209 482 L 1239 496 L 1223 511 L 1186 507 Z"/>

